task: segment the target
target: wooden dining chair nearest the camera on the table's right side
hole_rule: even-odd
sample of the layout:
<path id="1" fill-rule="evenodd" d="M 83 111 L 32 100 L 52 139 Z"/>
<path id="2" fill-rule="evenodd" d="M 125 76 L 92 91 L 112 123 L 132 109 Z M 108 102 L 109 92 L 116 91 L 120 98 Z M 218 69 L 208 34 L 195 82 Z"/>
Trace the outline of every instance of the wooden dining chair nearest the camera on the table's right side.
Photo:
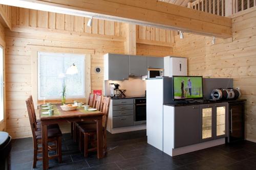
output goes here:
<path id="1" fill-rule="evenodd" d="M 100 111 L 104 113 L 104 115 L 102 116 L 102 130 L 103 130 L 103 148 L 105 153 L 107 152 L 107 145 L 106 145 L 106 126 L 108 124 L 108 116 L 109 116 L 109 108 L 110 108 L 110 97 L 103 97 L 102 98 L 102 103 L 101 103 L 101 107 L 100 107 Z M 90 137 L 94 137 L 97 136 L 97 128 L 96 128 L 96 124 L 91 124 L 91 125 L 80 125 L 79 126 L 79 130 L 80 130 L 80 135 L 84 137 L 84 157 L 88 156 L 88 152 L 90 151 L 96 151 L 96 148 L 90 148 L 89 149 L 89 142 L 92 143 L 96 143 L 95 140 L 89 140 L 89 136 Z M 82 141 L 80 141 L 82 143 Z"/>

